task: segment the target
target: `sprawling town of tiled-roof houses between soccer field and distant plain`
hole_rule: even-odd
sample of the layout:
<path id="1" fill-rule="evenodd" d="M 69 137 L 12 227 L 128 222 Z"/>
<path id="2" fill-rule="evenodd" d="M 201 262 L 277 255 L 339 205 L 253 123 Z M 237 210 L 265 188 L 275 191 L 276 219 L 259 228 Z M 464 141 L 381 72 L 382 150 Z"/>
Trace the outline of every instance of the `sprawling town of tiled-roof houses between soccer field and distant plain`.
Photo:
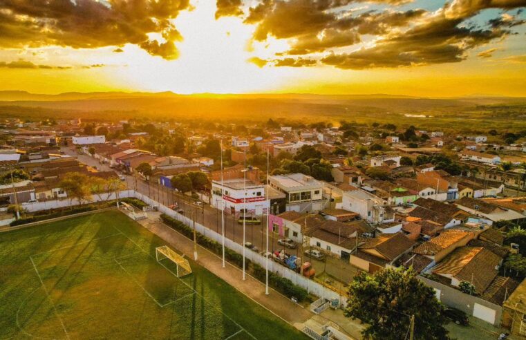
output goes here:
<path id="1" fill-rule="evenodd" d="M 185 235 L 188 258 L 213 266 L 199 245 L 259 281 L 226 280 L 238 290 L 279 292 L 252 298 L 312 339 L 360 339 L 371 321 L 350 292 L 389 270 L 433 289 L 450 337 L 523 339 L 526 131 L 417 123 L 7 118 L 0 229 L 116 201 Z"/>

